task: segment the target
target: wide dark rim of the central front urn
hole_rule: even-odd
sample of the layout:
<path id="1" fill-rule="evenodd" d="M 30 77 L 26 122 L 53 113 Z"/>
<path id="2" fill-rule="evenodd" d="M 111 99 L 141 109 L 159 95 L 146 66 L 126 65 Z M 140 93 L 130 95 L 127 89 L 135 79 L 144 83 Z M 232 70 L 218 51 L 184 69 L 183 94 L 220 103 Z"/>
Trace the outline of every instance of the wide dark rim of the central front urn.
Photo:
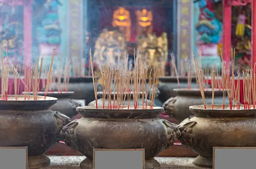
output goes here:
<path id="1" fill-rule="evenodd" d="M 81 106 L 77 107 L 77 111 L 82 114 L 83 117 L 87 118 L 107 118 L 107 119 L 154 119 L 158 118 L 159 114 L 164 112 L 163 107 L 153 107 L 153 109 L 110 109 L 108 105 L 106 108 L 102 106 Z M 124 108 L 128 106 L 125 105 Z M 142 108 L 142 106 L 139 106 Z"/>

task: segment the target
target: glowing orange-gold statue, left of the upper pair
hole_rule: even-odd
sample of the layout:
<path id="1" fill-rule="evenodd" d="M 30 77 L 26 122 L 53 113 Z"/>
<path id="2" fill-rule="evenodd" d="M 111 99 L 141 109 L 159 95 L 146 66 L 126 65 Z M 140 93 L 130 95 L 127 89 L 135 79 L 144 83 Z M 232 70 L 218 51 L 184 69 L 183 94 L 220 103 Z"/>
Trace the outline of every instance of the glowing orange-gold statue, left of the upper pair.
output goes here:
<path id="1" fill-rule="evenodd" d="M 119 30 L 125 35 L 126 40 L 130 41 L 131 38 L 131 18 L 130 12 L 123 7 L 119 7 L 113 14 L 113 27 L 118 27 Z"/>

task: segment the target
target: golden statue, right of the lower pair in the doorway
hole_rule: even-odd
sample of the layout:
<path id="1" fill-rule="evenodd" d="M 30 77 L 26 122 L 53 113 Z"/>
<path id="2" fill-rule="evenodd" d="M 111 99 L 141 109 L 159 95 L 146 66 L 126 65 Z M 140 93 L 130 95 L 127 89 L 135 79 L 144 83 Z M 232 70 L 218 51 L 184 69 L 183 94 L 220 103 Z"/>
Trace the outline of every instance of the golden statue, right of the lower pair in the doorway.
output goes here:
<path id="1" fill-rule="evenodd" d="M 156 37 L 154 33 L 137 36 L 138 49 L 141 50 L 143 61 L 146 62 L 148 70 L 154 68 L 158 62 L 161 64 L 161 76 L 165 75 L 165 65 L 168 57 L 167 33 Z"/>

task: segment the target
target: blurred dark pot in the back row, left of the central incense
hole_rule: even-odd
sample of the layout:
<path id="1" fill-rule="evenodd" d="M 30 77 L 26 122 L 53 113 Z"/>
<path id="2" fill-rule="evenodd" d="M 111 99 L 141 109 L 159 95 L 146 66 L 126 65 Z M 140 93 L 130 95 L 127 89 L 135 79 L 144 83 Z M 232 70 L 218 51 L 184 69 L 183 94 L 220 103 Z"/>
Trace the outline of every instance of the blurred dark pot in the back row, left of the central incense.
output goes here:
<path id="1" fill-rule="evenodd" d="M 61 82 L 63 82 L 63 78 Z M 61 91 L 63 91 L 64 88 L 65 86 L 62 83 Z M 95 99 L 92 76 L 70 77 L 68 91 L 74 91 L 74 94 L 72 94 L 70 98 L 85 100 L 85 104 L 87 105 Z"/>

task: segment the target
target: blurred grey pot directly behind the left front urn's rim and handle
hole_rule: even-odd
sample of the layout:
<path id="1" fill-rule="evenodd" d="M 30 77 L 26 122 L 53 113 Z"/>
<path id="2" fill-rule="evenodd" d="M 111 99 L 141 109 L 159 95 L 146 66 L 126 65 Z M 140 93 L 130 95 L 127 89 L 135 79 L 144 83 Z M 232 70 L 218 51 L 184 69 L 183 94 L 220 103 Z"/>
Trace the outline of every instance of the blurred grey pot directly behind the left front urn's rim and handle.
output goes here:
<path id="1" fill-rule="evenodd" d="M 24 94 L 24 92 L 22 92 Z M 33 93 L 31 93 L 33 94 Z M 74 94 L 73 91 L 62 91 L 62 92 L 47 92 L 47 96 L 57 98 L 57 103 L 50 107 L 51 110 L 60 111 L 62 114 L 65 114 L 69 118 L 77 115 L 77 107 L 82 106 L 74 99 L 70 99 L 70 96 Z M 38 92 L 38 96 L 44 96 L 44 92 Z"/>

